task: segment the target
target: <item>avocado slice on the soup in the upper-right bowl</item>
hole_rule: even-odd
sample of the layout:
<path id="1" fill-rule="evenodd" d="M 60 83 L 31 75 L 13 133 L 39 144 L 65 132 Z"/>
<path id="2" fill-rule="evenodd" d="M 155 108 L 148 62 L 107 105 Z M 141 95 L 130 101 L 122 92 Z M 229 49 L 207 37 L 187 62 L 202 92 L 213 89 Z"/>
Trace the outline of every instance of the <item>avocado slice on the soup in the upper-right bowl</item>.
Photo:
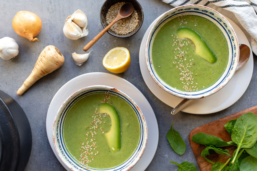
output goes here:
<path id="1" fill-rule="evenodd" d="M 191 28 L 182 27 L 177 30 L 176 34 L 181 39 L 191 39 L 195 44 L 195 53 L 198 56 L 201 56 L 211 64 L 217 61 L 217 57 L 214 55 L 212 50 L 210 50 L 207 43 L 200 36 L 200 34 L 198 34 L 196 31 L 192 30 Z"/>

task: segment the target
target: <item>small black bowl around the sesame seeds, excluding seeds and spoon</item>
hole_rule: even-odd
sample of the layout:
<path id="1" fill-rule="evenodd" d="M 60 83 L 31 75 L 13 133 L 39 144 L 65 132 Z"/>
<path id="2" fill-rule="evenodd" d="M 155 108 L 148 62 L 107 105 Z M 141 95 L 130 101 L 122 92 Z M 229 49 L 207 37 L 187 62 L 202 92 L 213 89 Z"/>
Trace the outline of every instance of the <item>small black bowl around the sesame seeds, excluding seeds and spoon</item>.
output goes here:
<path id="1" fill-rule="evenodd" d="M 103 3 L 103 5 L 101 7 L 101 10 L 100 10 L 101 24 L 102 24 L 103 28 L 108 26 L 108 24 L 106 23 L 106 14 L 108 12 L 108 9 L 112 5 L 114 5 L 118 2 L 125 2 L 125 3 L 129 2 L 133 5 L 134 9 L 136 10 L 136 12 L 138 14 L 138 24 L 137 24 L 136 28 L 132 32 L 129 32 L 128 34 L 117 34 L 114 31 L 112 31 L 111 29 L 109 29 L 107 32 L 109 34 L 115 36 L 115 37 L 129 37 L 129 36 L 132 36 L 140 29 L 140 27 L 142 26 L 142 23 L 143 23 L 143 19 L 144 19 L 144 14 L 143 14 L 142 7 L 136 0 L 106 0 Z"/>

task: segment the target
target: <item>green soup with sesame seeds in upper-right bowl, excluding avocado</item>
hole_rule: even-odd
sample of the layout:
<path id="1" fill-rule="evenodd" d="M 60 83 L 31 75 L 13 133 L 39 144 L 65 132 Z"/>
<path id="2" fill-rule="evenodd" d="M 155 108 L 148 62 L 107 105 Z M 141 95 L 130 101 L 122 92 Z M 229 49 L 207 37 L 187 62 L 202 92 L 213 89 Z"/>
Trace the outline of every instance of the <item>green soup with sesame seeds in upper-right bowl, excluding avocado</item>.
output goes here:
<path id="1" fill-rule="evenodd" d="M 197 32 L 215 54 L 213 64 L 198 56 L 190 39 L 176 35 L 179 28 Z M 183 15 L 166 22 L 152 44 L 152 64 L 157 75 L 181 91 L 199 91 L 214 84 L 228 63 L 228 44 L 222 31 L 211 21 L 196 15 Z"/>

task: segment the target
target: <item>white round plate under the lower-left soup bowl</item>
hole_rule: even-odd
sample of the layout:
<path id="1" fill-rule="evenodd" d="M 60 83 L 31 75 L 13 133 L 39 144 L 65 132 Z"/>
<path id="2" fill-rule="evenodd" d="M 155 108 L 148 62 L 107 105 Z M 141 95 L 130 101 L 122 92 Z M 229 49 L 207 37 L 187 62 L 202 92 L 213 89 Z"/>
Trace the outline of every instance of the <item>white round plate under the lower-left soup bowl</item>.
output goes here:
<path id="1" fill-rule="evenodd" d="M 146 123 L 148 125 L 148 141 L 144 150 L 144 154 L 137 162 L 137 164 L 132 169 L 130 169 L 130 171 L 145 170 L 152 161 L 152 158 L 154 157 L 159 139 L 158 125 L 156 117 L 154 115 L 154 111 L 152 110 L 151 105 L 144 97 L 144 95 L 133 84 L 131 84 L 127 80 L 124 80 L 121 77 L 102 72 L 87 73 L 73 78 L 72 80 L 64 84 L 53 97 L 47 111 L 46 130 L 48 141 L 55 156 L 66 170 L 71 170 L 61 161 L 61 159 L 57 155 L 57 152 L 55 151 L 52 139 L 53 121 L 61 104 L 72 93 L 81 88 L 93 85 L 105 85 L 120 89 L 121 91 L 124 91 L 130 97 L 132 97 L 132 99 L 134 99 L 134 101 L 136 101 L 136 103 L 141 108 L 142 112 L 144 113 Z"/>

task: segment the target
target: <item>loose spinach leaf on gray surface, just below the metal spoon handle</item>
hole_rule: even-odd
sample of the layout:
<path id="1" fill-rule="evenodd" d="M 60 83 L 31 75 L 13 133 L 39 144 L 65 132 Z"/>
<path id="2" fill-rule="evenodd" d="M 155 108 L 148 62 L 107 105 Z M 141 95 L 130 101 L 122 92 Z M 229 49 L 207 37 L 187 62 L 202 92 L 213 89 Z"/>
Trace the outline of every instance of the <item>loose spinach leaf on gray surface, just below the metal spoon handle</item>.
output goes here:
<path id="1" fill-rule="evenodd" d="M 170 130 L 167 133 L 167 140 L 170 143 L 171 148 L 177 153 L 177 154 L 184 154 L 186 151 L 186 144 L 184 140 L 179 135 L 178 131 L 175 131 L 172 126 L 174 123 L 172 123 Z"/>

